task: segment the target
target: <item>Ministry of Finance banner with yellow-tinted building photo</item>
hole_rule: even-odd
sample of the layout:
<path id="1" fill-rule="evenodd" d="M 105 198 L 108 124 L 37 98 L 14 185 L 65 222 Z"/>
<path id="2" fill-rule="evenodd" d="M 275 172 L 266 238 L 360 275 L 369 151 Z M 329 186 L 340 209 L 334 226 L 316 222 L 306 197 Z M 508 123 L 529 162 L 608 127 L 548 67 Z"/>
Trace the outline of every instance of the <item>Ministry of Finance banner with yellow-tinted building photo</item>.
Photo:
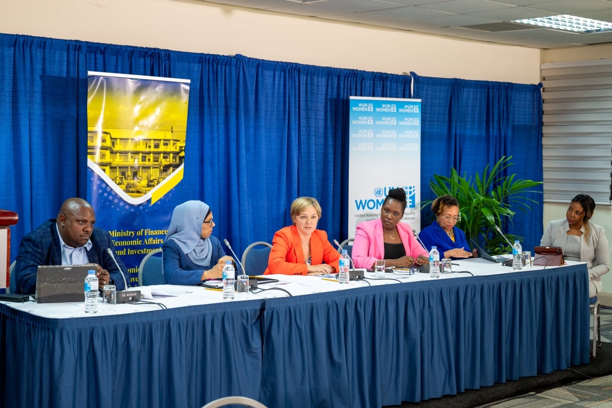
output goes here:
<path id="1" fill-rule="evenodd" d="M 188 79 L 88 72 L 88 201 L 138 280 L 162 247 L 171 211 L 159 211 L 183 176 Z"/>

